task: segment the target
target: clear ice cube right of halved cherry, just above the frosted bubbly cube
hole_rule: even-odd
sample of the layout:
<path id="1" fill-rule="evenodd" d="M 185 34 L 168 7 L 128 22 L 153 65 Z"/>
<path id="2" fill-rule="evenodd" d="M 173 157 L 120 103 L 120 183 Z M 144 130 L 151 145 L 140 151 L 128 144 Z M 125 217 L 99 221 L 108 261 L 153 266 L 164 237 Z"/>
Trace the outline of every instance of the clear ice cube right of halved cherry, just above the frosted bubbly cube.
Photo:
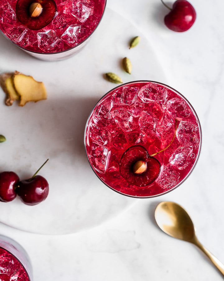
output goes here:
<path id="1" fill-rule="evenodd" d="M 179 169 L 184 170 L 189 164 L 189 156 L 192 153 L 192 147 L 179 147 L 173 155 L 170 156 L 170 164 Z"/>

